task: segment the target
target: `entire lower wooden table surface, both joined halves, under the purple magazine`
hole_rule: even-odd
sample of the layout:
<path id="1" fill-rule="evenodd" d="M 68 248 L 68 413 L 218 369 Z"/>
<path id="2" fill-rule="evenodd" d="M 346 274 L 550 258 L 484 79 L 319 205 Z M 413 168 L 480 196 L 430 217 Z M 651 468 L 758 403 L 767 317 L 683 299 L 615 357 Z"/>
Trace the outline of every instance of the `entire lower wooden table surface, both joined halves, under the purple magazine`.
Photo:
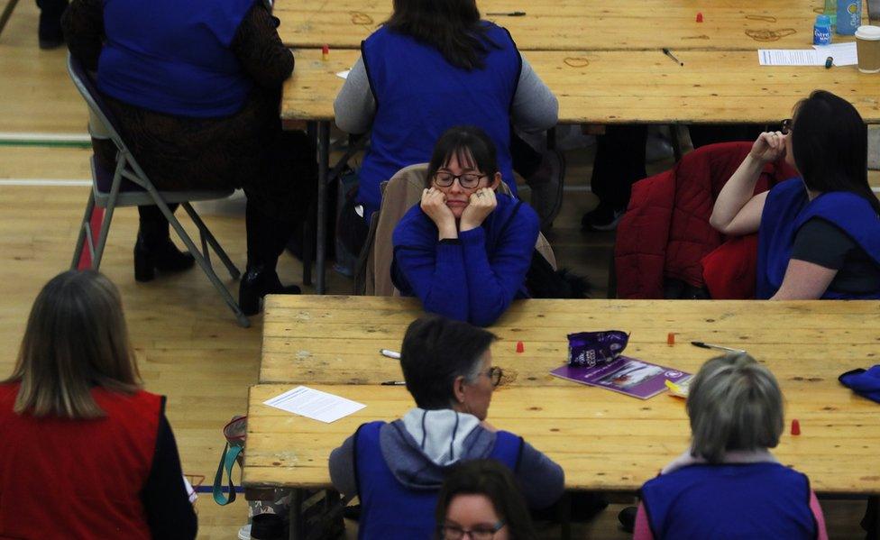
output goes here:
<path id="1" fill-rule="evenodd" d="M 260 381 L 248 407 L 243 481 L 249 487 L 329 485 L 330 451 L 363 422 L 391 420 L 413 407 L 399 380 L 398 350 L 417 300 L 392 297 L 270 296 L 263 325 Z M 646 401 L 551 377 L 566 362 L 565 335 L 620 329 L 627 353 L 695 372 L 715 354 L 692 340 L 745 348 L 774 373 L 786 401 L 786 426 L 775 452 L 811 477 L 822 493 L 880 493 L 877 405 L 837 380 L 876 363 L 880 302 L 521 300 L 490 330 L 500 337 L 493 364 L 508 376 L 496 390 L 489 420 L 523 435 L 565 470 L 573 490 L 637 490 L 688 444 L 683 402 Z M 676 333 L 674 346 L 666 344 Z M 522 341 L 525 352 L 517 353 Z M 515 377 L 510 377 L 515 375 Z M 268 384 L 267 384 L 268 383 Z M 326 425 L 262 405 L 306 384 L 367 405 Z"/>

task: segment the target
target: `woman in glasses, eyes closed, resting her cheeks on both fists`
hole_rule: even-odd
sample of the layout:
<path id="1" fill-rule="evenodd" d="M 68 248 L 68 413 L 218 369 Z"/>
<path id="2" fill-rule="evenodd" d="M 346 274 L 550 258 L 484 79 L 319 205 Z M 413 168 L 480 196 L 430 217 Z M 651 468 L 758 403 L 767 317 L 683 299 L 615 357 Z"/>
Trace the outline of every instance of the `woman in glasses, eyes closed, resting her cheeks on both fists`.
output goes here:
<path id="1" fill-rule="evenodd" d="M 495 146 L 480 128 L 457 126 L 437 141 L 428 186 L 394 229 L 391 278 L 426 311 L 474 325 L 495 322 L 528 297 L 538 235 L 535 212 L 496 193 Z"/>

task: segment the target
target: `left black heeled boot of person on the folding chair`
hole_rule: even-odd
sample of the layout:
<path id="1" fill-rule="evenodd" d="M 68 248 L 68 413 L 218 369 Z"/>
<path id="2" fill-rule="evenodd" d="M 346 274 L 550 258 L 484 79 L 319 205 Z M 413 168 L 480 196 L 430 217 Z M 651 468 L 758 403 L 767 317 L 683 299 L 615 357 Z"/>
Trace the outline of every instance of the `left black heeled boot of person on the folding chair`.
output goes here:
<path id="1" fill-rule="evenodd" d="M 171 212 L 177 205 L 170 206 Z M 189 270 L 196 263 L 188 252 L 181 252 L 168 231 L 168 220 L 158 206 L 138 206 L 141 226 L 137 243 L 134 244 L 134 279 L 150 281 L 156 277 L 155 270 L 179 272 Z"/>

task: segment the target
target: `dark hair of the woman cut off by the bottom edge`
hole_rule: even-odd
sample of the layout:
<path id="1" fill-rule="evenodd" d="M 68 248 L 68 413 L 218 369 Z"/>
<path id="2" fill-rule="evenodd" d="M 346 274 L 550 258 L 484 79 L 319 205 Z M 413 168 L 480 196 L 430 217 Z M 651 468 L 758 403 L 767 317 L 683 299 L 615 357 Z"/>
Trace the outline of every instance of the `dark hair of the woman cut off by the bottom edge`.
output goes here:
<path id="1" fill-rule="evenodd" d="M 437 498 L 437 526 L 446 520 L 446 510 L 456 495 L 484 495 L 515 540 L 536 540 L 535 526 L 513 473 L 495 460 L 460 462 L 446 476 Z"/>

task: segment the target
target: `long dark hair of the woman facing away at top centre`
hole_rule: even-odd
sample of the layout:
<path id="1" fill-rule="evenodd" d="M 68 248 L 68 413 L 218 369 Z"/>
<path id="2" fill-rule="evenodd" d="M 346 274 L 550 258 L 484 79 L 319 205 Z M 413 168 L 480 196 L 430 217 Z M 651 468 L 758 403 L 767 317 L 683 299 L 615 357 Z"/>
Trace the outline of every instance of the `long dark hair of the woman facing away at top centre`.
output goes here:
<path id="1" fill-rule="evenodd" d="M 500 49 L 474 0 L 394 0 L 385 25 L 435 47 L 456 68 L 482 69 L 489 50 Z"/>

